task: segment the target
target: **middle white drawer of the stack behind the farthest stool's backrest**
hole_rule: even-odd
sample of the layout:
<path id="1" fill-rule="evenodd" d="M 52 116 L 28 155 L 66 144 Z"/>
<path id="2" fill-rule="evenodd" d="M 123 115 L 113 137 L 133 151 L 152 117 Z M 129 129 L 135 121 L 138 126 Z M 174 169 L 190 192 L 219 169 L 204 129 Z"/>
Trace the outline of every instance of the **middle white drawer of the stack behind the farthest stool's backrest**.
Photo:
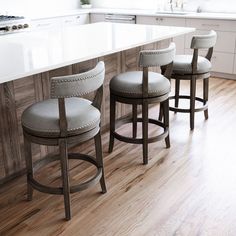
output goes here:
<path id="1" fill-rule="evenodd" d="M 186 48 L 190 47 L 193 35 L 207 34 L 208 32 L 209 31 L 205 31 L 205 30 L 197 30 L 193 33 L 187 34 L 185 38 L 186 39 L 185 47 Z M 234 53 L 235 41 L 236 41 L 236 33 L 217 31 L 217 41 L 214 47 L 214 51 Z"/>

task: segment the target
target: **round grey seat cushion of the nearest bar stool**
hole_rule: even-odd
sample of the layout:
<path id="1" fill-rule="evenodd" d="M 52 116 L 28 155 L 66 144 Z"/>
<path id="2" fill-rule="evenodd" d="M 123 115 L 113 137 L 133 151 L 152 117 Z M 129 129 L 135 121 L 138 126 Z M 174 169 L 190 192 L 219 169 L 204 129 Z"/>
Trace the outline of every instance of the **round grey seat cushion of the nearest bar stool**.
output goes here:
<path id="1" fill-rule="evenodd" d="M 66 98 L 68 136 L 82 134 L 100 124 L 100 111 L 91 101 Z M 28 107 L 22 114 L 22 126 L 27 132 L 42 137 L 59 137 L 58 99 L 48 99 Z"/>

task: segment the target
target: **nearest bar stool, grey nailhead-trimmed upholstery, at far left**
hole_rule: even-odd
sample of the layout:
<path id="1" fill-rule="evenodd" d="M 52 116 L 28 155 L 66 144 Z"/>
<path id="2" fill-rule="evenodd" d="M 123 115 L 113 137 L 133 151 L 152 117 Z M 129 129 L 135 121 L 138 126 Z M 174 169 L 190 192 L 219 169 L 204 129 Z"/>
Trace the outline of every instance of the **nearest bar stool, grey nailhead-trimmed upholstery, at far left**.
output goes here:
<path id="1" fill-rule="evenodd" d="M 51 79 L 51 99 L 31 105 L 22 114 L 28 200 L 32 200 L 33 189 L 64 195 L 66 220 L 71 219 L 70 193 L 87 189 L 99 181 L 102 193 L 106 192 L 100 135 L 104 74 L 104 63 L 99 62 L 88 72 L 54 77 Z M 96 91 L 93 102 L 78 97 L 93 91 Z M 96 159 L 85 154 L 68 153 L 69 144 L 79 144 L 91 138 L 95 140 Z M 33 163 L 31 143 L 59 146 L 59 154 L 49 155 Z M 94 165 L 97 170 L 95 176 L 70 186 L 68 159 L 78 159 Z M 56 160 L 61 163 L 62 187 L 39 183 L 34 178 L 34 172 Z"/>

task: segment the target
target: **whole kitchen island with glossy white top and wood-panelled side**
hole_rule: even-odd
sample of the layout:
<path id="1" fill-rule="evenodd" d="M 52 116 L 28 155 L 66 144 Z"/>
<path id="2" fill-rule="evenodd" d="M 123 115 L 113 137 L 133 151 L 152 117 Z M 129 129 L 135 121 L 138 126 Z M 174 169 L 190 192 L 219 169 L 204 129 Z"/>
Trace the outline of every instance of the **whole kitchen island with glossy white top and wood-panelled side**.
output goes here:
<path id="1" fill-rule="evenodd" d="M 186 27 L 96 23 L 1 36 L 0 184 L 24 172 L 21 114 L 29 105 L 50 97 L 51 77 L 80 73 L 103 60 L 105 129 L 109 124 L 110 79 L 123 71 L 138 70 L 141 49 L 165 47 L 171 38 L 193 31 Z M 119 106 L 119 116 L 129 112 L 129 107 Z M 53 147 L 33 146 L 35 159 L 53 151 Z"/>

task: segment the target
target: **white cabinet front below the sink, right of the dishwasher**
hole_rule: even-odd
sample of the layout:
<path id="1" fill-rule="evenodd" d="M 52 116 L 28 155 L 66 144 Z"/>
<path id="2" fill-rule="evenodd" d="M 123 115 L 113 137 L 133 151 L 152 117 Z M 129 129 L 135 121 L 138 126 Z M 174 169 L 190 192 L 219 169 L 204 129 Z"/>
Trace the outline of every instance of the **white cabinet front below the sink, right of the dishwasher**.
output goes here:
<path id="1" fill-rule="evenodd" d="M 136 22 L 144 25 L 185 26 L 185 19 L 173 17 L 137 16 Z"/>

